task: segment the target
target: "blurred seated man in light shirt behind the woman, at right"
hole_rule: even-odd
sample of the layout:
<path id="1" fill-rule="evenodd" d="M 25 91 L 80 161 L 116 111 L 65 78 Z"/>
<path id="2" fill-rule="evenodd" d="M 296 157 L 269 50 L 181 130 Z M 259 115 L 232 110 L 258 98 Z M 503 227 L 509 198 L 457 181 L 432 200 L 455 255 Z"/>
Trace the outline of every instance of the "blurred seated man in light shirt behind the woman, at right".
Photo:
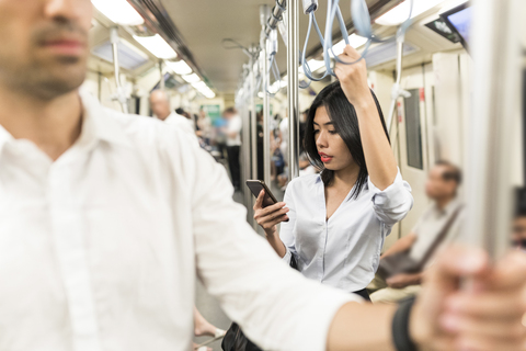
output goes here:
<path id="1" fill-rule="evenodd" d="M 430 171 L 425 192 L 433 204 L 422 215 L 413 230 L 387 250 L 380 269 L 369 288 L 374 303 L 393 303 L 420 291 L 423 270 L 434 254 L 458 235 L 462 206 L 457 200 L 461 171 L 448 161 L 438 161 Z M 388 261 L 386 258 L 390 257 Z M 407 261 L 409 258 L 410 263 Z M 389 267 L 392 265 L 392 267 Z M 400 267 L 399 265 L 404 265 Z"/>

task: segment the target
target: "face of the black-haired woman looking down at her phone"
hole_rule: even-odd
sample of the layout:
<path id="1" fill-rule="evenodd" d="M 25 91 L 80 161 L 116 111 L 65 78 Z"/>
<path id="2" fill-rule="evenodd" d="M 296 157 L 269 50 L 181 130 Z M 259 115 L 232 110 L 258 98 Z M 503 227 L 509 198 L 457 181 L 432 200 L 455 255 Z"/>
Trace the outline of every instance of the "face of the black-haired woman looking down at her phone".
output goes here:
<path id="1" fill-rule="evenodd" d="M 339 171 L 354 163 L 353 156 L 332 125 L 325 106 L 316 110 L 313 127 L 316 147 L 327 169 Z"/>

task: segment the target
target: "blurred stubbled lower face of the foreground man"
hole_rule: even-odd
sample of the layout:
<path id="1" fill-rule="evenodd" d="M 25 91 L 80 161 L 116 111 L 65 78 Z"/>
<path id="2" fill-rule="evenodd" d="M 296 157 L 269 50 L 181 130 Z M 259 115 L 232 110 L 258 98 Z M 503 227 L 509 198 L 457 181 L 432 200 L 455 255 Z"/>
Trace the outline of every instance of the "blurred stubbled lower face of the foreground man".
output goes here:
<path id="1" fill-rule="evenodd" d="M 87 71 L 90 0 L 0 0 L 0 86 L 50 100 Z"/>

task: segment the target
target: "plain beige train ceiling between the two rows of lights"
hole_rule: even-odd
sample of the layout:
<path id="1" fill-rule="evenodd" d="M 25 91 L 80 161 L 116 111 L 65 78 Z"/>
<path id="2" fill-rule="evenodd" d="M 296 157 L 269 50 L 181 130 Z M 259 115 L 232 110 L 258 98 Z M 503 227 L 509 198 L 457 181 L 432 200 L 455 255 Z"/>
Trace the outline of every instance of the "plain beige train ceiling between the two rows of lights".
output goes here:
<path id="1" fill-rule="evenodd" d="M 260 37 L 259 8 L 274 5 L 274 0 L 162 0 L 170 18 L 181 32 L 184 42 L 197 65 L 209 79 L 213 88 L 231 93 L 236 90 L 242 66 L 248 57 L 239 49 L 225 49 L 221 42 L 233 38 L 244 46 L 256 44 Z M 374 4 L 378 0 L 367 0 Z M 345 21 L 351 20 L 350 1 L 342 1 Z M 325 2 L 320 1 L 317 20 L 321 29 L 325 25 Z M 300 43 L 307 33 L 308 18 L 300 15 Z M 322 30 L 323 31 L 323 30 Z M 308 50 L 317 47 L 319 39 L 311 36 Z M 279 39 L 277 64 L 286 69 L 286 49 Z"/>

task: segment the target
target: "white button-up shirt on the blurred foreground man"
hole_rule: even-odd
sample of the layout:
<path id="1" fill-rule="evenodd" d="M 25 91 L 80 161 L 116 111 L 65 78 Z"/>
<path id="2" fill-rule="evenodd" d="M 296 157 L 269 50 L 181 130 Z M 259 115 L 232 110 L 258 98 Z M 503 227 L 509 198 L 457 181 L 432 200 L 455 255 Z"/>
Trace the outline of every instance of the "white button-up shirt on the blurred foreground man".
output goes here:
<path id="1" fill-rule="evenodd" d="M 184 133 L 81 99 L 55 162 L 0 126 L 0 350 L 188 351 L 196 274 L 264 349 L 323 350 L 358 298 L 288 269 Z"/>

